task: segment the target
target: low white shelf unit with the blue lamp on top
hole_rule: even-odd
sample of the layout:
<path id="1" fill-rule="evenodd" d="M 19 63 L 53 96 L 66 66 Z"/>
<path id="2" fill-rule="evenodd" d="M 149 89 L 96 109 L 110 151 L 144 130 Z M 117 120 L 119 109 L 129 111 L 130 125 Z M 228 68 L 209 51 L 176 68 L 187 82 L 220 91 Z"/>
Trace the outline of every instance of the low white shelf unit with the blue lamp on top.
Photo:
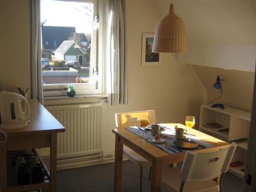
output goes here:
<path id="1" fill-rule="evenodd" d="M 201 105 L 199 129 L 208 135 L 217 137 L 223 141 L 231 142 L 233 140 L 248 138 L 250 129 L 251 113 L 239 109 L 225 106 L 222 108 L 211 108 L 208 104 Z M 220 123 L 223 127 L 212 129 L 204 125 L 207 123 Z M 228 134 L 219 132 L 220 130 L 229 129 Z M 241 170 L 246 165 L 246 153 L 248 141 L 237 143 L 238 147 L 231 162 L 242 161 L 243 165 L 230 167 L 229 172 L 241 178 L 244 172 Z"/>

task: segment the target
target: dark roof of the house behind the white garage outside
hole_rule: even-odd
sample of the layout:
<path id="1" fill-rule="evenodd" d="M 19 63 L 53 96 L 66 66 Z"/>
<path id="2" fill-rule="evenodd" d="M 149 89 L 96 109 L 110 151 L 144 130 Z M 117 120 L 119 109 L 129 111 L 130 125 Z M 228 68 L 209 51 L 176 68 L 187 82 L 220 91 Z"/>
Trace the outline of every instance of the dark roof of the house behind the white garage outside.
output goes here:
<path id="1" fill-rule="evenodd" d="M 56 50 L 64 40 L 69 40 L 71 34 L 76 32 L 75 27 L 61 26 L 42 26 L 41 30 L 42 49 L 44 50 Z"/>

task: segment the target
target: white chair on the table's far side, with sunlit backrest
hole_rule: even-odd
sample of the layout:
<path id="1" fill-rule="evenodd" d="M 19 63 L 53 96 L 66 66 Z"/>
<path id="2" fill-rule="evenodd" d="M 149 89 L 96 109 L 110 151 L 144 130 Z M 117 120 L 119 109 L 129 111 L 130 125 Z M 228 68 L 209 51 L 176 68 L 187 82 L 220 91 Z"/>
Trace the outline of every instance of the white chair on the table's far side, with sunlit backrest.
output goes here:
<path id="1" fill-rule="evenodd" d="M 138 126 L 140 124 L 141 115 L 148 115 L 150 123 L 156 123 L 155 111 L 137 111 L 137 112 L 127 112 L 127 113 L 116 113 L 116 127 L 118 129 L 123 129 L 123 127 L 128 126 Z M 151 162 L 147 161 L 144 157 L 137 154 L 135 151 L 127 146 L 123 146 L 123 155 L 131 160 L 133 163 L 140 167 L 140 191 L 142 191 L 142 174 L 143 167 L 150 167 L 151 176 Z"/>

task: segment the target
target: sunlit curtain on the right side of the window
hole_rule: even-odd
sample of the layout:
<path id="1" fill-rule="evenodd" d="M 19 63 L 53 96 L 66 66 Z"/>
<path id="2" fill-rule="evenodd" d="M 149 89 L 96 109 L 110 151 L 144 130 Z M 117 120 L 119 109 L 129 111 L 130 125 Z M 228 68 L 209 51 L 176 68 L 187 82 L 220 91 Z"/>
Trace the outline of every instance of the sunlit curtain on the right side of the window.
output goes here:
<path id="1" fill-rule="evenodd" d="M 125 0 L 110 0 L 108 30 L 107 87 L 108 103 L 128 104 L 126 70 L 126 11 Z"/>

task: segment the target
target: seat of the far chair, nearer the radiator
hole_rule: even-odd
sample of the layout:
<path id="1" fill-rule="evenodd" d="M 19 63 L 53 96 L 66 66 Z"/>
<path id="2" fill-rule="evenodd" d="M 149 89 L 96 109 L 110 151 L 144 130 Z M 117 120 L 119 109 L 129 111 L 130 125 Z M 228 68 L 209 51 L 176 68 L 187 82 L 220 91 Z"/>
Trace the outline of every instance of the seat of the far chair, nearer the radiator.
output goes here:
<path id="1" fill-rule="evenodd" d="M 138 166 L 151 166 L 151 162 L 147 161 L 144 157 L 140 156 L 135 151 L 131 150 L 131 148 L 125 145 L 123 145 L 123 155 Z"/>

